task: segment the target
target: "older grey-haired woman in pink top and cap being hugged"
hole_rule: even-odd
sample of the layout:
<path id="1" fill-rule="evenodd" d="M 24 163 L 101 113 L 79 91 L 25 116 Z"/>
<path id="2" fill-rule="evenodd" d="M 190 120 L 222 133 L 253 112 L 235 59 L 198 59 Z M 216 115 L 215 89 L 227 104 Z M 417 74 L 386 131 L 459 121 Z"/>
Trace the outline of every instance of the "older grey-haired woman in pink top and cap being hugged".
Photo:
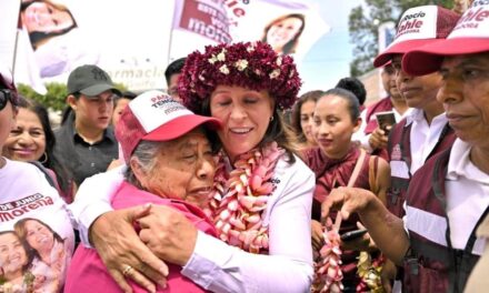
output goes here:
<path id="1" fill-rule="evenodd" d="M 176 125 L 178 125 L 176 128 Z M 219 121 L 199 117 L 162 92 L 146 92 L 122 112 L 117 139 L 128 162 L 126 180 L 112 198 L 114 209 L 143 203 L 170 206 L 184 214 L 200 231 L 216 235 L 216 229 L 201 209 L 207 208 L 212 191 L 216 164 L 211 145 L 201 125 L 218 128 Z M 169 184 L 171 182 L 171 184 Z M 139 222 L 144 226 L 144 221 Z M 198 285 L 170 266 L 170 291 L 200 292 Z M 132 273 L 131 266 L 123 271 Z M 146 292 L 131 283 L 136 292 Z M 163 290 L 159 286 L 158 291 Z M 67 292 L 119 292 L 116 281 L 94 250 L 80 246 L 68 273 Z"/>

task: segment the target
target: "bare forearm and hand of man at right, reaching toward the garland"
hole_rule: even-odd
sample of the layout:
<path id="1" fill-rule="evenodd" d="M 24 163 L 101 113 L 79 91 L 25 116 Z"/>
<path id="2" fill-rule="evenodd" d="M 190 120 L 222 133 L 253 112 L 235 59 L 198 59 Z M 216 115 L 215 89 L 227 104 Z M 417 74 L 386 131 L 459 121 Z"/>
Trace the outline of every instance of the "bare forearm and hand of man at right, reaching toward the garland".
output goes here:
<path id="1" fill-rule="evenodd" d="M 409 247 L 403 222 L 391 214 L 373 193 L 363 189 L 335 189 L 322 203 L 322 216 L 327 216 L 332 208 L 340 209 L 343 219 L 357 212 L 386 256 L 396 264 L 402 263 Z"/>

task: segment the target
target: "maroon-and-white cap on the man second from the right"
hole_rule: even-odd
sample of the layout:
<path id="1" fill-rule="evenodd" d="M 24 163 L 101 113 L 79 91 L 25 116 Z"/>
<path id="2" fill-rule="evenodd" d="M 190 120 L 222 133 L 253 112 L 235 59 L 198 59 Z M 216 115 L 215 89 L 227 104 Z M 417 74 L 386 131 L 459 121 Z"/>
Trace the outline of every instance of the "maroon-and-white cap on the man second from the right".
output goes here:
<path id="1" fill-rule="evenodd" d="M 393 54 L 405 54 L 421 46 L 447 38 L 460 16 L 438 6 L 422 6 L 406 10 L 397 26 L 396 39 L 375 60 L 383 67 Z"/>

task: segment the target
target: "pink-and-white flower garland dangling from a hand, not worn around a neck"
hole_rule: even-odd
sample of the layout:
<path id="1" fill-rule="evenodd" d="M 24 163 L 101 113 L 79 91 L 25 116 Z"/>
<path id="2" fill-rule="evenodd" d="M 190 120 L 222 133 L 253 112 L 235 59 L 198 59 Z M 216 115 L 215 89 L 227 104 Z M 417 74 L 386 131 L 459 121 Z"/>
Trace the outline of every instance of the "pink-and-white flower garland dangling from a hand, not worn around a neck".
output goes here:
<path id="1" fill-rule="evenodd" d="M 338 213 L 332 225 L 330 218 L 323 226 L 325 245 L 319 251 L 318 260 L 315 262 L 315 281 L 311 292 L 342 292 L 343 273 L 341 272 L 340 235 L 338 233 L 341 224 L 341 215 Z"/>

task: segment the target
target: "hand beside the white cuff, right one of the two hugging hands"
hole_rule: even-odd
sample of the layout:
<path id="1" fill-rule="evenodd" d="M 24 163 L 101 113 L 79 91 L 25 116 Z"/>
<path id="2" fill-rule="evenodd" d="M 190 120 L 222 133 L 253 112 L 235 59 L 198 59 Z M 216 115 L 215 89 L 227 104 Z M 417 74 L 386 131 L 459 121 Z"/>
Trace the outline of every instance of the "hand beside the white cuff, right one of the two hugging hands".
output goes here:
<path id="1" fill-rule="evenodd" d="M 161 260 L 186 265 L 197 242 L 196 226 L 174 209 L 153 205 L 138 220 L 142 242 Z"/>

